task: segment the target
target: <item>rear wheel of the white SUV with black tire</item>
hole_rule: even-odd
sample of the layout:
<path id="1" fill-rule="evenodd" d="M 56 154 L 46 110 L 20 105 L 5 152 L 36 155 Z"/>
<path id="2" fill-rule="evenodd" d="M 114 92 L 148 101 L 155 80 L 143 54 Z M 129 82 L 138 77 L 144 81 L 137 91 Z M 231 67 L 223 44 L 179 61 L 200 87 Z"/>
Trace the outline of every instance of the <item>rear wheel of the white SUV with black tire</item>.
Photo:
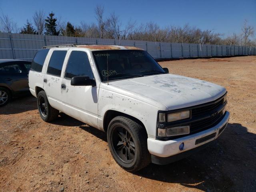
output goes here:
<path id="1" fill-rule="evenodd" d="M 42 120 L 45 122 L 50 122 L 59 115 L 59 110 L 54 109 L 50 105 L 44 91 L 40 91 L 37 95 L 37 108 Z"/>

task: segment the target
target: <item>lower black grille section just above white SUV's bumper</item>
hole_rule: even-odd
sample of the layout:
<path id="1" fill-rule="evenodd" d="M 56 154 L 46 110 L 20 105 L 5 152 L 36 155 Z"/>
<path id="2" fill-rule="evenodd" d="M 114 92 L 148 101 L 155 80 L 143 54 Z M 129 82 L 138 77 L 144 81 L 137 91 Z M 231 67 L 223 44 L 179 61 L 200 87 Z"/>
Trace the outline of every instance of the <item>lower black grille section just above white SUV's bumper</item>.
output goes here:
<path id="1" fill-rule="evenodd" d="M 197 132 L 216 126 L 222 120 L 223 117 L 224 116 L 222 115 L 222 112 L 220 112 L 216 116 L 192 122 L 190 124 L 190 134 L 195 134 Z"/>

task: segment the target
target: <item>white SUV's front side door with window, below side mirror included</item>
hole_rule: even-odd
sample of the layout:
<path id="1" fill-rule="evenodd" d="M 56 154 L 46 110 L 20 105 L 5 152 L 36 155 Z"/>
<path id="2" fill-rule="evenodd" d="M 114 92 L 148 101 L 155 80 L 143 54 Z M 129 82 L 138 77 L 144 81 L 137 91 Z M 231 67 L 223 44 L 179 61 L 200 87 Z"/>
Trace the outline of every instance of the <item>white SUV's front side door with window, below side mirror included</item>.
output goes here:
<path id="1" fill-rule="evenodd" d="M 94 79 L 88 54 L 72 50 L 62 79 L 63 107 L 66 114 L 91 126 L 98 127 L 98 88 L 97 86 L 72 86 L 74 76 L 89 76 Z"/>

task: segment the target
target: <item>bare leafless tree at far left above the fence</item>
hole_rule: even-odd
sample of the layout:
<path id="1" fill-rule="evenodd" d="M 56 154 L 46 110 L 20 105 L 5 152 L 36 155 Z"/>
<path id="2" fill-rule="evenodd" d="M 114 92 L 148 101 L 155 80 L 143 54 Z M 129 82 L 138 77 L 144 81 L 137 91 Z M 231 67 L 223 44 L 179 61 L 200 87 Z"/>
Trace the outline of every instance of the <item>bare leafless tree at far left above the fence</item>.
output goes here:
<path id="1" fill-rule="evenodd" d="M 20 28 L 17 26 L 17 23 L 13 22 L 8 15 L 2 14 L 2 16 L 0 16 L 0 23 L 1 23 L 1 28 L 3 32 L 7 32 L 7 33 L 20 32 Z"/>

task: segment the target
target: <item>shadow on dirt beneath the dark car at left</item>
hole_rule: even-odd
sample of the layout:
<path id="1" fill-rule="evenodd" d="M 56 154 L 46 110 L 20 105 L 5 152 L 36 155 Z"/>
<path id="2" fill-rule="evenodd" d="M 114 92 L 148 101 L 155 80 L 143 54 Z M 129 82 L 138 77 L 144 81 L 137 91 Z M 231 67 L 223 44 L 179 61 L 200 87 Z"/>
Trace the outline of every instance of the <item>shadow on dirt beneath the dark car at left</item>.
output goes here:
<path id="1" fill-rule="evenodd" d="M 36 98 L 30 94 L 19 98 L 13 98 L 8 104 L 0 107 L 0 114 L 17 114 L 35 109 L 37 109 Z"/>

